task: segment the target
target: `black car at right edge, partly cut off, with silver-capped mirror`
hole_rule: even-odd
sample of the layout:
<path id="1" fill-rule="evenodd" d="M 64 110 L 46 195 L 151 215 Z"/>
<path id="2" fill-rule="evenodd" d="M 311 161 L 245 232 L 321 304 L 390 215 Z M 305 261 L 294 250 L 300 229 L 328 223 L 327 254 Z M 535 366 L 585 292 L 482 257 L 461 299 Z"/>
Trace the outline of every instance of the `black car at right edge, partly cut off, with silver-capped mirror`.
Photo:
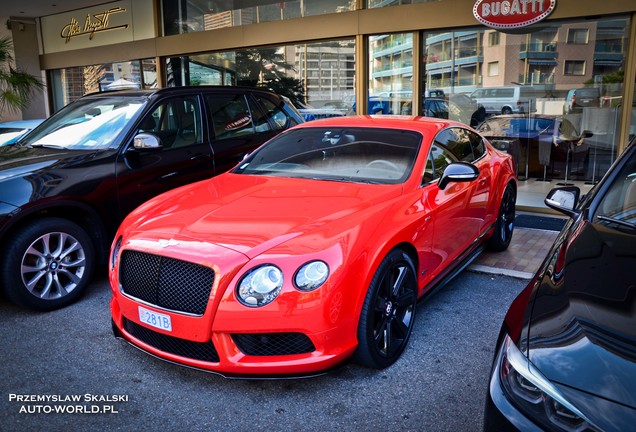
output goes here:
<path id="1" fill-rule="evenodd" d="M 580 204 L 505 317 L 484 429 L 627 431 L 636 427 L 636 143 Z"/>

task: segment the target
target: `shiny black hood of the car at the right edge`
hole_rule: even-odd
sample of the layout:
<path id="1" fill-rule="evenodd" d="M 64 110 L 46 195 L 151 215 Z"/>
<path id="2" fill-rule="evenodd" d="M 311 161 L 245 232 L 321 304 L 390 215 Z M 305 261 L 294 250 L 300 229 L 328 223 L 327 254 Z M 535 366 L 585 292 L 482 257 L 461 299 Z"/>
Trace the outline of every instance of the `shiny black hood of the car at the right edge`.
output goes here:
<path id="1" fill-rule="evenodd" d="M 636 235 L 585 220 L 570 233 L 536 294 L 530 361 L 588 398 L 636 408 Z"/>

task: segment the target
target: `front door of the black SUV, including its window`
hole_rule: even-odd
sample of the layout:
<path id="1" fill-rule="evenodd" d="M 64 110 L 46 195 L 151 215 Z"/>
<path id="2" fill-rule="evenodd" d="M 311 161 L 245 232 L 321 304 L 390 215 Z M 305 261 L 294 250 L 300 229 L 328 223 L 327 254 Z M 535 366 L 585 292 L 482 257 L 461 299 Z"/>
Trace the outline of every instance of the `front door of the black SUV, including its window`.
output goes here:
<path id="1" fill-rule="evenodd" d="M 161 99 L 135 129 L 159 139 L 159 148 L 138 149 L 132 139 L 120 154 L 117 188 L 121 216 L 148 199 L 215 174 L 199 94 Z"/>

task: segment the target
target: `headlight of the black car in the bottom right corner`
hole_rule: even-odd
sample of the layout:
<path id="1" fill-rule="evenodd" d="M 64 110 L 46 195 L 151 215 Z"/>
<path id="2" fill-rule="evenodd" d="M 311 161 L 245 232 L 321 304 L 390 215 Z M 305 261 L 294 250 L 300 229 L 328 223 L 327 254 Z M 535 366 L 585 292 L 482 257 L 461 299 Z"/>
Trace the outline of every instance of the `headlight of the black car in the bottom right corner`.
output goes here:
<path id="1" fill-rule="evenodd" d="M 530 363 L 508 335 L 497 362 L 504 392 L 531 419 L 549 429 L 598 430 Z"/>

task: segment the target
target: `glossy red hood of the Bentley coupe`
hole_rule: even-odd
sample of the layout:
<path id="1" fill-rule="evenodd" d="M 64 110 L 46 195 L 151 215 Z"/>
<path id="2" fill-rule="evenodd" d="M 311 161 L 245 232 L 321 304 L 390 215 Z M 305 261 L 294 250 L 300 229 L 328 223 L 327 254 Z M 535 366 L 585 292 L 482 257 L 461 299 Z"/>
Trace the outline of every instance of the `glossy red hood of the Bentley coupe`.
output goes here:
<path id="1" fill-rule="evenodd" d="M 148 201 L 124 226 L 136 231 L 132 238 L 189 238 L 253 258 L 348 216 L 364 216 L 401 193 L 401 185 L 226 173 Z"/>

